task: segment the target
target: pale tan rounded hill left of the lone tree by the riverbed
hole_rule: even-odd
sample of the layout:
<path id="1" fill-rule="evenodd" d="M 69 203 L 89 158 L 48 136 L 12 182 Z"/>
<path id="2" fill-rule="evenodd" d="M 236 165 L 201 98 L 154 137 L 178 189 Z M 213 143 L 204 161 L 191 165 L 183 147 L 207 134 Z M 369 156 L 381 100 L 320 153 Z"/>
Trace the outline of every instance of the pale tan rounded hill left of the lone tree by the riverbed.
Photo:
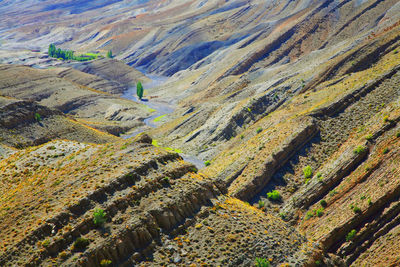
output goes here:
<path id="1" fill-rule="evenodd" d="M 0 65 L 0 73 L 1 95 L 36 101 L 115 135 L 143 125 L 143 118 L 152 112 L 117 96 L 127 90 L 121 80 L 117 83 L 70 68 L 38 70 L 11 64 Z M 134 79 L 130 72 L 124 73 L 130 77 L 127 80 Z"/>

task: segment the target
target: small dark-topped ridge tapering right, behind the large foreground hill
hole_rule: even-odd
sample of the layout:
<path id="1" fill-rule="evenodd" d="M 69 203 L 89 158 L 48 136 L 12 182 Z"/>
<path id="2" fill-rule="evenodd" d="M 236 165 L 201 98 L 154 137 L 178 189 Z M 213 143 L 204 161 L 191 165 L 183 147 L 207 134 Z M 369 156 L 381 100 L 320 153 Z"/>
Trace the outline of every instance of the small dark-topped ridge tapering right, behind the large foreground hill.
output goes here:
<path id="1" fill-rule="evenodd" d="M 21 148 L 56 138 L 91 143 L 116 140 L 35 102 L 0 97 L 0 111 L 0 140 L 7 146 Z"/>

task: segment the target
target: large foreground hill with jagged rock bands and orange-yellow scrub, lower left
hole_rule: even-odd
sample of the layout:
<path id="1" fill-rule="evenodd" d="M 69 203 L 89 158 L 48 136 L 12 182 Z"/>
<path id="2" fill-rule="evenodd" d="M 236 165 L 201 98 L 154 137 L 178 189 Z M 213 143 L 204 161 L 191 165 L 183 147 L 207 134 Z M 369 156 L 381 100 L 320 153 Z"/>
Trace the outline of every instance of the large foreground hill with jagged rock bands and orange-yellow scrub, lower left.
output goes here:
<path id="1" fill-rule="evenodd" d="M 293 228 L 223 197 L 193 165 L 154 148 L 151 141 L 145 135 L 108 145 L 53 141 L 1 161 L 0 263 L 149 265 L 153 253 L 151 266 L 166 263 L 165 253 L 177 264 L 197 258 L 202 264 L 247 265 L 264 253 L 276 263 L 306 261 L 300 248 L 310 249 Z M 93 222 L 95 208 L 106 212 L 102 227 Z M 259 244 L 264 236 L 267 246 Z M 78 247 L 79 238 L 89 240 L 88 245 Z M 209 239 L 225 256 L 206 256 L 212 248 Z M 223 250 L 219 243 L 225 239 L 236 245 Z M 284 246 L 277 250 L 277 243 Z M 282 249 L 299 257 L 286 258 Z"/>

